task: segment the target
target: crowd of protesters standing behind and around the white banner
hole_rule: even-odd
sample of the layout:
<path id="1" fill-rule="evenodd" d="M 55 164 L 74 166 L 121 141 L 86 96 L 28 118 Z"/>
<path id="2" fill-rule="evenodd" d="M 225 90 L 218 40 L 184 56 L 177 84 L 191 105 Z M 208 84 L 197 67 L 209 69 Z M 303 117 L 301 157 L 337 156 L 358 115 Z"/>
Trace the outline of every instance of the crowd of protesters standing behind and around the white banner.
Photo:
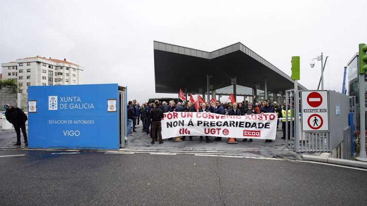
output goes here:
<path id="1" fill-rule="evenodd" d="M 216 114 L 223 115 L 254 115 L 260 113 L 277 113 L 278 118 L 283 118 L 282 121 L 282 130 L 283 137 L 281 139 L 285 139 L 285 125 L 288 124 L 288 139 L 290 139 L 290 118 L 286 123 L 284 119 L 287 111 L 285 111 L 285 104 L 278 105 L 276 101 L 270 104 L 269 100 L 265 99 L 263 101 L 254 101 L 249 102 L 247 100 L 243 102 L 225 102 L 221 103 L 219 100 L 216 101 L 215 107 L 213 107 L 210 102 L 202 103 L 200 105 L 199 110 L 196 110 L 195 105 L 190 101 L 184 102 L 182 105 L 181 102 L 175 103 L 174 100 L 170 102 L 161 102 L 156 100 L 155 102 L 144 103 L 141 106 L 134 99 L 133 101 L 128 102 L 127 106 L 127 119 L 128 119 L 128 134 L 134 135 L 133 132 L 136 131 L 136 127 L 139 127 L 141 122 L 142 124 L 142 132 L 145 132 L 146 135 L 150 136 L 152 139 L 152 144 L 154 144 L 157 140 L 159 140 L 159 144 L 163 143 L 162 140 L 162 127 L 160 121 L 163 118 L 163 113 L 166 112 L 179 112 L 179 111 L 190 111 L 190 112 L 211 112 Z M 288 116 L 291 114 L 291 109 L 288 110 Z M 279 121 L 277 123 L 277 128 L 279 128 Z M 193 141 L 192 136 L 188 136 L 190 141 Z M 170 138 L 169 140 L 172 140 Z M 212 143 L 209 136 L 205 137 L 206 143 Z M 186 136 L 182 136 L 181 140 L 186 140 Z M 214 141 L 221 141 L 222 137 L 215 137 Z M 203 136 L 200 136 L 200 141 L 203 141 Z M 243 141 L 247 141 L 246 138 Z M 252 142 L 252 139 L 249 139 Z M 266 143 L 273 142 L 272 140 L 265 140 Z"/>

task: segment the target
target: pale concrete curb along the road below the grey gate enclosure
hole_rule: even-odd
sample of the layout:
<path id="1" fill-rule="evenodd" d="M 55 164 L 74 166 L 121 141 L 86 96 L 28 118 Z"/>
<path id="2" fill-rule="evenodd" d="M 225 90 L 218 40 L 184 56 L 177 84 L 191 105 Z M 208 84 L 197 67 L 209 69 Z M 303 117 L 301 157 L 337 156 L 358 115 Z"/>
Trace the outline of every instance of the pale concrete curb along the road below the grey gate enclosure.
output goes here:
<path id="1" fill-rule="evenodd" d="M 303 160 L 325 162 L 331 164 L 348 165 L 352 167 L 367 168 L 367 162 L 348 160 L 348 159 L 338 159 L 338 158 L 328 158 L 320 157 L 315 155 L 301 155 Z"/>

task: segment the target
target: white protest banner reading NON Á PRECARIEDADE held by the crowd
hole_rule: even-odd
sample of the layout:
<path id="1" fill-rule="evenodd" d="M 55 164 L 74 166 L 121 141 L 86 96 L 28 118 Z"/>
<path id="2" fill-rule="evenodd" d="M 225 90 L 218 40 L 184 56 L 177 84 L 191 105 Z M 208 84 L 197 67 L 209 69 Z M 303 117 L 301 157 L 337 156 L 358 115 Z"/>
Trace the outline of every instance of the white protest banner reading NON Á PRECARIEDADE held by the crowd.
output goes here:
<path id="1" fill-rule="evenodd" d="M 275 140 L 277 114 L 226 116 L 210 112 L 167 112 L 162 119 L 162 138 L 215 136 Z"/>

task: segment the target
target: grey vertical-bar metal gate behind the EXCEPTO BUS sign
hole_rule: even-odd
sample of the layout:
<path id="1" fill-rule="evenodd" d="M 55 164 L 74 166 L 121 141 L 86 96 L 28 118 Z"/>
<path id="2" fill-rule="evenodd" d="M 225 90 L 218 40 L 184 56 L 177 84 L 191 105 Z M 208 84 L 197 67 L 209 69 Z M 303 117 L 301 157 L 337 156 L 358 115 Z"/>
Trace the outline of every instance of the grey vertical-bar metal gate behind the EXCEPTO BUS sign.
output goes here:
<path id="1" fill-rule="evenodd" d="M 302 132 L 300 116 L 300 92 L 297 90 L 285 91 L 285 111 L 291 109 L 291 114 L 286 113 L 285 121 L 290 118 L 291 140 L 286 138 L 287 147 L 295 152 L 330 152 L 330 132 Z M 285 137 L 288 137 L 288 124 L 285 124 Z"/>

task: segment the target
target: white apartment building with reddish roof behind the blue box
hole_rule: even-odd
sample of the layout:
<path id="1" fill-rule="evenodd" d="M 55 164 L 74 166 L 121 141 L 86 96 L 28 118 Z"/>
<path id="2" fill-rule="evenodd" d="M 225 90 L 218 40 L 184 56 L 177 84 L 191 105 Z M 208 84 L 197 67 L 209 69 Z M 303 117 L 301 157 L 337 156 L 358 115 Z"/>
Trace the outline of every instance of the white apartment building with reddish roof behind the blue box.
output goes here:
<path id="1" fill-rule="evenodd" d="M 17 78 L 19 93 L 27 93 L 28 86 L 82 84 L 84 67 L 45 57 L 28 57 L 16 62 L 1 63 L 2 79 Z"/>

